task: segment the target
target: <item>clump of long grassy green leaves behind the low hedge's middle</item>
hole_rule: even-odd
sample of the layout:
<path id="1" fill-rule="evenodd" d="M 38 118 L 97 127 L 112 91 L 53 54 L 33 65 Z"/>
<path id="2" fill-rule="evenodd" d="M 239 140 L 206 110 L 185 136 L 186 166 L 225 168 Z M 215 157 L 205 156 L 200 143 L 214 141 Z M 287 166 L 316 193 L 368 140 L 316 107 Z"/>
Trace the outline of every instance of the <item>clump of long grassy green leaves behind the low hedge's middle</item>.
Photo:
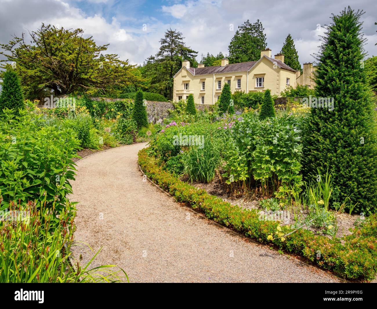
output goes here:
<path id="1" fill-rule="evenodd" d="M 215 169 L 221 163 L 220 147 L 210 136 L 204 138 L 202 135 L 201 143 L 201 146 L 191 146 L 189 151 L 183 154 L 184 173 L 191 182 L 210 183 L 215 178 Z"/>

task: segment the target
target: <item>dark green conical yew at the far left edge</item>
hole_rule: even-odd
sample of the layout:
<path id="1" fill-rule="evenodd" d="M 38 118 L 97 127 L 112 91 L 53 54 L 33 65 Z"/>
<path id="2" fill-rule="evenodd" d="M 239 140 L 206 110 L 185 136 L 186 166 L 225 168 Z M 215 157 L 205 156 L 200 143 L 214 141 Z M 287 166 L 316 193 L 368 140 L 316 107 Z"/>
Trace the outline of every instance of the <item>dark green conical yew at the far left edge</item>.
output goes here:
<path id="1" fill-rule="evenodd" d="M 14 109 L 14 114 L 19 115 L 18 109 L 25 106 L 20 80 L 17 73 L 8 69 L 3 75 L 2 92 L 0 95 L 0 114 L 4 108 Z"/>

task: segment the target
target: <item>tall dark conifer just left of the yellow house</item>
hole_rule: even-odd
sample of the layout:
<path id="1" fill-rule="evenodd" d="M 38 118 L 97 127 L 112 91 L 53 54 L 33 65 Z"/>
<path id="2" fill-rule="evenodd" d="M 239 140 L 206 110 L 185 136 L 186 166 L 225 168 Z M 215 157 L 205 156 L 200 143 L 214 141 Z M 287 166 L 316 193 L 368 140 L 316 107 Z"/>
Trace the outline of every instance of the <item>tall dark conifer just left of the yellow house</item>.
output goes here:
<path id="1" fill-rule="evenodd" d="M 150 79 L 151 92 L 173 98 L 173 76 L 182 66 L 182 60 L 189 60 L 191 67 L 197 67 L 196 56 L 198 52 L 184 43 L 182 32 L 169 29 L 159 41 L 160 49 L 156 55 L 147 59 L 144 76 Z"/>

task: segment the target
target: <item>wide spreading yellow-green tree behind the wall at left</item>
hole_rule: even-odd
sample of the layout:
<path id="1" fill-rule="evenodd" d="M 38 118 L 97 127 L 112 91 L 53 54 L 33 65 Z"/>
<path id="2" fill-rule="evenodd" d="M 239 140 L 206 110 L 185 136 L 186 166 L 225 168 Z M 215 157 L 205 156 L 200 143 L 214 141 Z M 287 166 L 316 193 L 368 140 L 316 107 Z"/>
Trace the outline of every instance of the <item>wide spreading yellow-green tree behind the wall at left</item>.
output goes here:
<path id="1" fill-rule="evenodd" d="M 92 37 L 84 37 L 82 29 L 64 29 L 42 24 L 29 31 L 31 44 L 25 34 L 0 44 L 5 56 L 3 68 L 9 61 L 21 79 L 28 98 L 46 94 L 110 93 L 127 85 L 137 85 L 143 79 L 134 74 L 134 66 L 116 54 L 102 54 L 106 45 L 98 46 Z"/>

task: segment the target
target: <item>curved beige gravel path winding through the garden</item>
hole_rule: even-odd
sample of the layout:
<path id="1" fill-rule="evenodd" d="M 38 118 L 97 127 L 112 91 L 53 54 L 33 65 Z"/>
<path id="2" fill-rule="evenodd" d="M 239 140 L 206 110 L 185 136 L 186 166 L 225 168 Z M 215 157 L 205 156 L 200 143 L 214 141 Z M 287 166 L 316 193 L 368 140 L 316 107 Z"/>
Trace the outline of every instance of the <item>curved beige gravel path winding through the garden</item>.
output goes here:
<path id="1" fill-rule="evenodd" d="M 75 240 L 97 251 L 93 266 L 116 264 L 131 282 L 338 282 L 268 246 L 219 227 L 143 181 L 138 151 L 109 149 L 79 161 Z M 74 247 L 82 264 L 93 253 Z"/>

